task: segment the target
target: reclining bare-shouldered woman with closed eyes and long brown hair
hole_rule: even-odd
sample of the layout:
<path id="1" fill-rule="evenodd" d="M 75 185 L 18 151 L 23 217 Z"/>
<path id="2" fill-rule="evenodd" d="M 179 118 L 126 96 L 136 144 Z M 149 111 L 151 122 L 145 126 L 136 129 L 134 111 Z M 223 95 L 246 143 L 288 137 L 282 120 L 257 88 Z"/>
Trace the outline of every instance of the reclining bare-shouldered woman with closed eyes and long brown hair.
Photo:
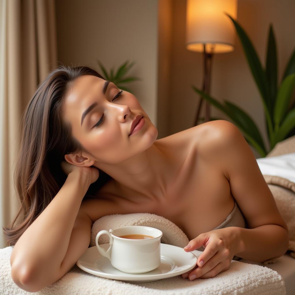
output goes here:
<path id="1" fill-rule="evenodd" d="M 185 251 L 205 248 L 190 279 L 216 276 L 234 257 L 286 252 L 286 223 L 234 124 L 157 136 L 136 97 L 94 69 L 60 66 L 45 78 L 24 112 L 21 218 L 4 229 L 18 286 L 35 292 L 60 279 L 88 248 L 92 223 L 109 214 L 148 212 L 178 225 Z M 246 228 L 216 229 L 233 208 Z"/>

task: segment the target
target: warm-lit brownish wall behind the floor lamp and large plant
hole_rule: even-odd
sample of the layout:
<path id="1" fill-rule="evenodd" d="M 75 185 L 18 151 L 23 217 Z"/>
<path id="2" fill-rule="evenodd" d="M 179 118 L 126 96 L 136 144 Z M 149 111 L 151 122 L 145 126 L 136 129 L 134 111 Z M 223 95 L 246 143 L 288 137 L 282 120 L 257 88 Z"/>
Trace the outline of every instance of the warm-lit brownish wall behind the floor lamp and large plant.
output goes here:
<path id="1" fill-rule="evenodd" d="M 191 85 L 194 84 L 197 88 L 202 89 L 203 83 L 202 54 L 185 49 L 186 1 L 172 0 L 171 5 L 173 21 L 171 23 L 171 73 L 168 93 L 169 134 L 193 126 L 199 96 L 195 94 Z M 281 81 L 286 63 L 295 47 L 294 12 L 294 0 L 238 1 L 237 20 L 253 42 L 263 65 L 266 58 L 268 27 L 270 23 L 273 23 L 277 41 L 279 81 Z M 262 133 L 266 147 L 269 148 L 266 141 L 267 133 L 262 101 L 237 36 L 233 52 L 213 56 L 211 94 L 219 101 L 224 99 L 231 101 L 251 114 Z M 201 116 L 204 116 L 204 103 Z M 213 106 L 211 107 L 211 116 L 230 121 L 225 114 Z M 158 117 L 160 118 L 160 116 Z M 158 124 L 160 125 L 161 122 L 159 121 Z M 255 150 L 253 153 L 256 158 L 260 158 Z"/>

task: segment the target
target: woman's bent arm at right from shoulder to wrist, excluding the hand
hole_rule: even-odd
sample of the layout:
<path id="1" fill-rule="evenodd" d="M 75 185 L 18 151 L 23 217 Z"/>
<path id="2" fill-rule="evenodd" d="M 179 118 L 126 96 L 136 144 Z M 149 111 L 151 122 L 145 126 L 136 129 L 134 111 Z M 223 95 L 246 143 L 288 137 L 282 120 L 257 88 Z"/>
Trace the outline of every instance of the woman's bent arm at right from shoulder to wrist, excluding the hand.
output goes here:
<path id="1" fill-rule="evenodd" d="M 216 135 L 210 139 L 211 151 L 204 152 L 209 152 L 215 165 L 224 172 L 248 224 L 248 229 L 238 228 L 241 243 L 236 255 L 253 261 L 283 255 L 289 244 L 288 227 L 253 152 L 234 124 L 225 120 L 213 122 Z"/>

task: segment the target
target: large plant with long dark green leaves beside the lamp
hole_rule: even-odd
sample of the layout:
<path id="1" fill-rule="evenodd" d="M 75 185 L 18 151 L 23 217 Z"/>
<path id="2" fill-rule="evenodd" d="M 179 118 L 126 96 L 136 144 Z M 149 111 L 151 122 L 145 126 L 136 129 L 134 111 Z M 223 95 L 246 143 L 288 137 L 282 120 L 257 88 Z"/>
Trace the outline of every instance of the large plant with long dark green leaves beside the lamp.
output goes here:
<path id="1" fill-rule="evenodd" d="M 295 106 L 294 103 L 290 104 L 295 86 L 295 50 L 286 65 L 281 83 L 278 85 L 276 40 L 272 25 L 270 25 L 268 34 L 266 66 L 263 68 L 245 31 L 229 14 L 227 16 L 230 17 L 235 25 L 248 65 L 258 87 L 263 103 L 270 150 L 272 150 L 277 142 L 284 140 L 289 132 L 295 128 Z M 250 115 L 229 101 L 224 100 L 224 104 L 220 104 L 212 96 L 197 89 L 193 85 L 192 87 L 196 93 L 227 114 L 243 132 L 247 142 L 262 157 L 265 157 L 269 153 L 270 150 L 268 152 L 266 151 L 261 134 Z"/>

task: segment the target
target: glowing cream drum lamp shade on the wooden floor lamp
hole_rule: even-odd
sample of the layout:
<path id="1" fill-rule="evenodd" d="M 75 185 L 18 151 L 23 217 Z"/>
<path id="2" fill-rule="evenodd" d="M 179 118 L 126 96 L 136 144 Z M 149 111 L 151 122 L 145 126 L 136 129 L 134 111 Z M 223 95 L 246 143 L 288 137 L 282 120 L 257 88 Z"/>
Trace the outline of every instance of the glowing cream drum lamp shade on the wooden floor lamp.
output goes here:
<path id="1" fill-rule="evenodd" d="M 196 52 L 226 53 L 234 50 L 237 0 L 187 0 L 186 49 Z"/>

